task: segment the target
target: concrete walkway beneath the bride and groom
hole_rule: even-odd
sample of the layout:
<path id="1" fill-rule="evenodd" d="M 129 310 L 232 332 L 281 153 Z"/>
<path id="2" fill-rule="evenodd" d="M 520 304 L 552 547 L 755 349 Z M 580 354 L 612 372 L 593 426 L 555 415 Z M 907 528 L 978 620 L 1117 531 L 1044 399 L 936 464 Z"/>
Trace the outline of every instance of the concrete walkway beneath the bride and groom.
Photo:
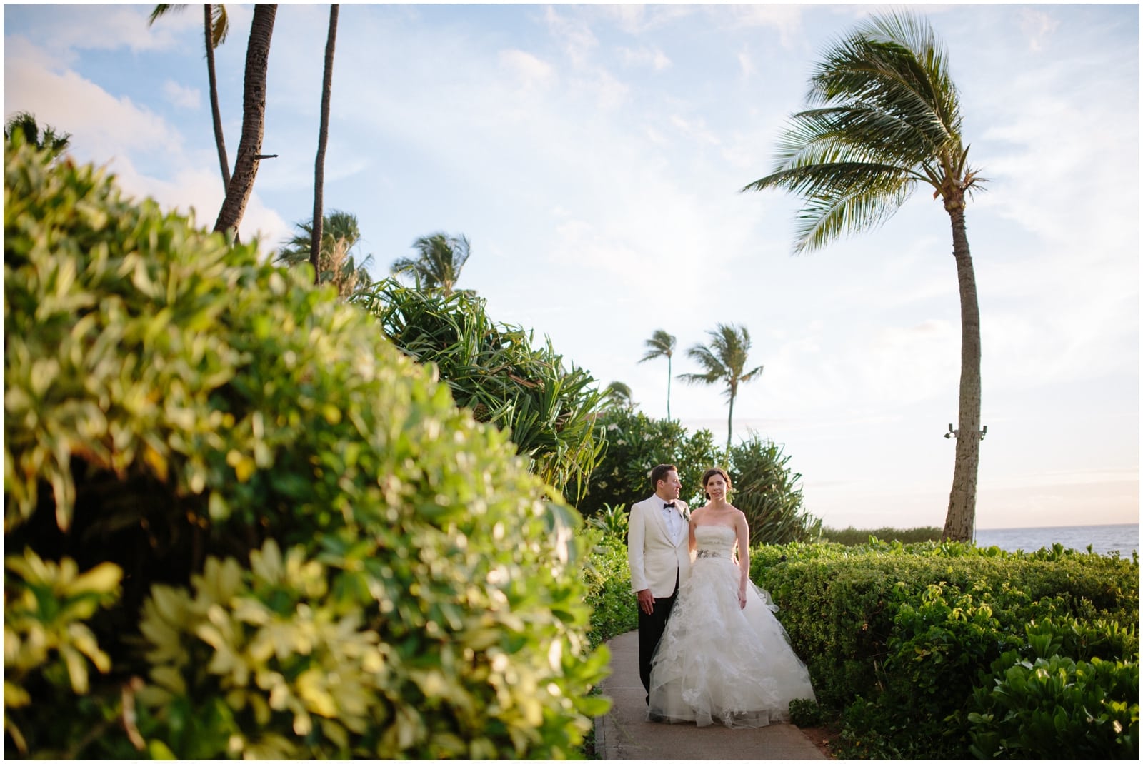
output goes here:
<path id="1" fill-rule="evenodd" d="M 647 721 L 639 682 L 639 633 L 607 643 L 612 675 L 600 683 L 612 710 L 596 717 L 596 755 L 623 759 L 785 759 L 823 761 L 825 756 L 792 724 L 757 730 L 727 730 L 718 724 L 658 724 Z"/>

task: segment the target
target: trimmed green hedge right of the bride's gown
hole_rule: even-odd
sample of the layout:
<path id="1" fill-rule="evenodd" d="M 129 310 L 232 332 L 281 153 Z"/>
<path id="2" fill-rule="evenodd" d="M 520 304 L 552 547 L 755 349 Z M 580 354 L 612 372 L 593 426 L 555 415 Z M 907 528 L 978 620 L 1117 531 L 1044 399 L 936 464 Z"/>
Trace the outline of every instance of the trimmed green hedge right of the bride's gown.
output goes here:
<path id="1" fill-rule="evenodd" d="M 1055 650 L 1064 657 L 1122 666 L 1096 679 L 1105 679 L 1100 692 L 1111 721 L 1097 722 L 1092 708 L 1085 733 L 1098 739 L 1103 756 L 1121 755 L 1132 741 L 1137 754 L 1138 698 L 1122 694 L 1130 683 L 1121 676 L 1133 674 L 1137 687 L 1137 556 L 1058 546 L 1009 554 L 961 544 L 816 544 L 759 547 L 751 569 L 782 608 L 820 702 L 841 711 L 844 756 L 962 758 L 973 734 L 1002 738 L 983 727 L 974 733 L 969 714 L 982 719 L 992 708 L 985 695 L 1008 669 L 1036 660 L 1046 622 L 1058 627 Z M 1015 718 L 1016 726 L 1024 721 Z M 1117 719 L 1122 730 L 1109 732 Z M 999 750 L 993 742 L 978 747 Z"/>

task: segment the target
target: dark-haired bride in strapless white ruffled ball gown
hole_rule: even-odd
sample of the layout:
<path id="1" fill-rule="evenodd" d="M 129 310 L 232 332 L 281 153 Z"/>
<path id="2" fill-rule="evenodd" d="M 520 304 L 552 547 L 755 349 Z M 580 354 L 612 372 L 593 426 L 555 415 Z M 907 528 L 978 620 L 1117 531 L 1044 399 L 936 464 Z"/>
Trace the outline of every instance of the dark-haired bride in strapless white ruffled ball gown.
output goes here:
<path id="1" fill-rule="evenodd" d="M 727 502 L 730 477 L 708 469 L 703 489 L 709 501 L 690 515 L 690 577 L 652 659 L 648 718 L 728 727 L 785 722 L 791 700 L 814 699 L 809 673 L 774 617 L 777 605 L 749 578 L 750 530 Z"/>

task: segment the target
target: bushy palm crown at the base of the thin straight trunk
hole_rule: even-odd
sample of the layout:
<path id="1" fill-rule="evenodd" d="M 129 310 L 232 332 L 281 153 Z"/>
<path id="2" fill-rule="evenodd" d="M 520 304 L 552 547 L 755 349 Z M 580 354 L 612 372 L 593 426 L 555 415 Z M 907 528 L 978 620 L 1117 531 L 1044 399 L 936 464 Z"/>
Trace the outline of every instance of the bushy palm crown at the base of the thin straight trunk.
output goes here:
<path id="1" fill-rule="evenodd" d="M 321 226 L 321 250 L 319 257 L 313 257 L 313 222 L 298 223 L 297 232 L 282 242 L 282 248 L 274 258 L 286 265 L 301 265 L 318 260 L 321 271 L 314 279 L 315 283 L 333 283 L 337 293 L 346 298 L 373 280 L 369 276 L 369 264 L 373 255 L 366 255 L 360 263 L 352 254 L 361 242 L 361 227 L 355 215 L 331 210 Z"/>

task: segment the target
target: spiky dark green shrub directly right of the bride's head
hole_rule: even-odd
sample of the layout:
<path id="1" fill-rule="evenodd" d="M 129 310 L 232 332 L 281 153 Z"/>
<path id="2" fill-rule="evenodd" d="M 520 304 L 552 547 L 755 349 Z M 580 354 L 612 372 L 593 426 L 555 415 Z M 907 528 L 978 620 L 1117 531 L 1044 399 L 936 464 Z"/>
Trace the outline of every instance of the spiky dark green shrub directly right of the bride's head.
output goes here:
<path id="1" fill-rule="evenodd" d="M 801 506 L 801 473 L 774 441 L 752 434 L 730 447 L 729 473 L 734 506 L 746 515 L 754 542 L 788 544 L 817 539 L 822 521 Z"/>

